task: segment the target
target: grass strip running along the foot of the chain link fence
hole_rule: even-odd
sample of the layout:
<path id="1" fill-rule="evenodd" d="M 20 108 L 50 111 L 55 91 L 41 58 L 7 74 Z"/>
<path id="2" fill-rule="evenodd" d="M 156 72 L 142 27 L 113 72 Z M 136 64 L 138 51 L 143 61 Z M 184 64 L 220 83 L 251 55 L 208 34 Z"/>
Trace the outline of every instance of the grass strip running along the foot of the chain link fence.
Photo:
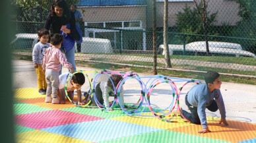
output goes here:
<path id="1" fill-rule="evenodd" d="M 13 57 L 13 59 L 22 59 L 22 60 L 32 61 L 31 56 L 24 56 L 24 55 L 15 55 L 15 57 Z M 253 59 L 255 59 L 255 58 L 253 58 Z M 100 61 L 102 61 L 102 60 L 106 61 L 105 58 L 101 58 Z M 130 64 L 130 65 L 143 65 L 143 66 L 148 66 L 148 67 L 152 67 L 152 65 L 153 65 L 152 62 L 143 62 L 143 61 L 119 61 L 119 63 L 126 63 L 126 64 Z M 148 68 L 141 68 L 141 67 L 128 67 L 128 66 L 121 66 L 121 65 L 112 65 L 112 64 L 107 64 L 107 63 L 88 63 L 88 62 L 82 62 L 82 61 L 77 61 L 76 64 L 77 64 L 77 66 L 80 66 L 80 67 L 92 67 L 92 68 L 96 68 L 96 69 L 110 69 L 113 71 L 134 71 L 134 72 L 144 73 L 144 74 L 153 74 L 154 73 L 152 68 L 148 69 Z M 164 67 L 164 64 L 158 64 L 158 67 Z M 218 72 L 232 73 L 232 74 L 247 74 L 247 75 L 254 75 L 254 76 L 256 75 L 256 72 L 253 72 L 253 71 L 238 71 L 238 70 L 211 68 L 211 67 L 201 67 L 201 66 L 195 66 L 195 65 L 173 65 L 173 67 L 176 67 L 177 69 L 189 69 L 189 70 L 195 70 L 195 71 L 210 71 L 211 70 L 211 71 L 218 71 Z M 169 71 L 169 70 L 158 69 L 158 74 L 163 74 L 165 76 L 174 76 L 174 77 L 180 77 L 180 78 L 195 78 L 195 79 L 203 80 L 203 74 L 195 73 L 195 72 L 181 72 L 181 71 Z M 240 84 L 256 85 L 256 78 L 243 78 L 243 77 L 222 75 L 221 79 L 223 82 L 235 82 L 235 83 L 240 83 Z"/>

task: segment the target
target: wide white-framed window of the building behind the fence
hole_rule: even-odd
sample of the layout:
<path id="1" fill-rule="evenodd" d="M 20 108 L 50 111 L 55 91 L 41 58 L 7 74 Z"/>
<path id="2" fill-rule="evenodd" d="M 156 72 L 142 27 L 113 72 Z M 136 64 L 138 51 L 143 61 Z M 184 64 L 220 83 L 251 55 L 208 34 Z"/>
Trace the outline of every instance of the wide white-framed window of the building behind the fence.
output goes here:
<path id="1" fill-rule="evenodd" d="M 84 22 L 84 26 L 89 27 L 84 29 L 84 35 L 108 39 L 114 48 L 146 50 L 146 34 L 142 25 L 141 20 Z"/>

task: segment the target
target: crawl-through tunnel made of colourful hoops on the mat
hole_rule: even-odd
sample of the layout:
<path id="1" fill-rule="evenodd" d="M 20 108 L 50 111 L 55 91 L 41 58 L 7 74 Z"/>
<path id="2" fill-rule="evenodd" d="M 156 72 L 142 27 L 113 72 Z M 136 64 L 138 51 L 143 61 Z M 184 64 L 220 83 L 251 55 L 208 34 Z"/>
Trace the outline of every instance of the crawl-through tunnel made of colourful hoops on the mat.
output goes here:
<path id="1" fill-rule="evenodd" d="M 123 113 L 132 116 L 132 115 L 139 115 L 141 113 L 143 113 L 146 105 L 148 107 L 148 109 L 150 110 L 150 112 L 157 117 L 158 119 L 160 119 L 161 121 L 165 121 L 168 123 L 175 123 L 177 121 L 172 121 L 173 117 L 175 117 L 177 115 L 177 113 L 180 113 L 180 116 L 183 117 L 183 119 L 185 119 L 185 117 L 182 115 L 181 111 L 180 111 L 180 106 L 179 106 L 179 97 L 181 94 L 181 90 L 184 88 L 184 86 L 186 86 L 188 83 L 193 82 L 195 84 L 201 84 L 200 80 L 195 80 L 195 79 L 184 79 L 184 78 L 174 78 L 174 77 L 170 77 L 170 76 L 164 76 L 164 75 L 155 75 L 155 76 L 139 76 L 136 72 L 119 72 L 119 71 L 110 71 L 110 70 L 106 70 L 104 69 L 103 71 L 77 71 L 77 72 L 82 72 L 84 74 L 89 73 L 89 72 L 94 72 L 93 78 L 90 80 L 88 74 L 86 74 L 86 78 L 88 78 L 88 81 L 90 83 L 90 92 L 91 94 L 91 98 L 94 98 L 94 101 L 96 103 L 96 105 L 102 109 L 102 111 L 108 111 L 109 109 L 104 109 L 104 105 L 102 105 L 98 99 L 96 98 L 96 81 L 98 80 L 98 78 L 100 77 L 100 75 L 104 74 L 105 76 L 108 76 L 108 79 L 110 79 L 110 81 L 112 82 L 112 86 L 113 86 L 113 94 L 115 96 L 117 96 L 117 99 L 113 99 L 112 101 L 112 105 L 110 106 L 110 108 L 113 107 L 113 105 L 115 104 L 115 102 L 118 101 L 119 104 L 121 104 L 120 102 L 120 92 L 121 92 L 121 87 L 123 86 L 123 84 L 125 83 L 125 81 L 133 78 L 135 80 L 137 80 L 137 82 L 139 82 L 139 84 L 141 85 L 141 95 L 139 100 L 137 101 L 137 103 L 135 103 L 135 105 L 133 105 L 133 107 L 137 106 L 134 108 L 133 111 L 128 111 L 128 109 L 125 109 L 125 105 L 120 105 Z M 74 72 L 73 74 L 77 73 Z M 71 101 L 71 103 L 74 103 L 75 105 L 77 105 L 77 103 L 75 101 L 72 101 L 68 94 L 67 94 L 67 82 L 69 81 L 69 79 L 73 76 L 73 74 L 69 75 L 69 77 L 67 78 L 66 84 L 65 84 L 65 94 L 66 97 L 69 99 L 69 101 Z M 112 79 L 110 78 L 109 74 L 118 74 L 123 76 L 123 79 L 117 84 L 117 86 L 115 87 L 115 85 L 113 84 Z M 146 84 L 144 84 L 142 78 L 149 78 L 146 81 Z M 185 82 L 184 84 L 182 84 L 182 86 L 178 89 L 176 86 L 176 82 Z M 150 83 L 150 84 L 149 84 Z M 168 83 L 171 88 L 172 88 L 172 101 L 170 102 L 170 105 L 168 105 L 168 107 L 157 111 L 154 110 L 151 105 L 150 105 L 150 94 L 152 94 L 152 90 L 153 88 L 155 88 L 156 86 L 158 86 L 159 84 L 162 83 Z M 149 85 L 148 85 L 149 84 Z M 148 88 L 147 88 L 148 87 Z M 146 103 L 143 103 L 144 101 L 146 101 Z M 86 105 L 77 105 L 80 107 L 86 107 L 90 104 L 91 100 L 88 101 L 88 103 L 86 103 Z M 132 108 L 133 109 L 133 108 Z M 176 112 L 174 113 L 174 115 L 171 115 L 174 111 L 174 109 L 176 109 Z M 167 111 L 166 113 L 164 113 L 163 111 Z M 159 115 L 159 113 L 161 113 L 162 115 Z M 185 119 L 185 122 L 187 122 L 188 120 Z"/>

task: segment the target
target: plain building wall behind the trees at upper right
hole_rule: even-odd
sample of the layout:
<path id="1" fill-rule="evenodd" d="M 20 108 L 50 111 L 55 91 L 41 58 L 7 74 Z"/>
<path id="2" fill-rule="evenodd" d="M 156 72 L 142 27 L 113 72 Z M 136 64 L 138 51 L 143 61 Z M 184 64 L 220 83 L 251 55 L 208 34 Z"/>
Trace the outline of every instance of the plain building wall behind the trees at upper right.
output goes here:
<path id="1" fill-rule="evenodd" d="M 197 0 L 198 3 L 201 0 Z M 214 25 L 220 26 L 224 22 L 228 23 L 232 26 L 236 25 L 238 21 L 241 20 L 241 17 L 238 16 L 239 12 L 239 4 L 234 0 L 207 0 L 207 11 L 211 13 L 218 12 L 216 16 L 216 22 Z M 174 26 L 177 16 L 176 14 L 179 11 L 183 11 L 182 9 L 185 5 L 189 7 L 195 7 L 195 3 L 193 2 L 169 2 L 168 3 L 168 26 Z M 163 19 L 164 19 L 164 2 L 156 3 L 156 17 L 157 24 L 156 26 L 162 27 Z"/>

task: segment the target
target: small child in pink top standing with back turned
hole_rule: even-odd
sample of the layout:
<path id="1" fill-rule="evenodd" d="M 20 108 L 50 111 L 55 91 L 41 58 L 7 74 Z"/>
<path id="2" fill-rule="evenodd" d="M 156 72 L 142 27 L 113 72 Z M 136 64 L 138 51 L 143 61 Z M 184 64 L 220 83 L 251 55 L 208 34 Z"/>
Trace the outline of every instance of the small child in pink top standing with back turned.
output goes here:
<path id="1" fill-rule="evenodd" d="M 71 63 L 67 62 L 65 55 L 59 49 L 61 42 L 63 42 L 63 36 L 61 34 L 54 34 L 51 38 L 51 47 L 46 50 L 44 55 L 43 69 L 46 72 L 46 82 L 48 84 L 46 103 L 59 103 L 57 92 L 59 89 L 59 71 L 61 65 L 74 72 Z M 51 94 L 53 94 L 53 99 L 51 99 Z"/>

